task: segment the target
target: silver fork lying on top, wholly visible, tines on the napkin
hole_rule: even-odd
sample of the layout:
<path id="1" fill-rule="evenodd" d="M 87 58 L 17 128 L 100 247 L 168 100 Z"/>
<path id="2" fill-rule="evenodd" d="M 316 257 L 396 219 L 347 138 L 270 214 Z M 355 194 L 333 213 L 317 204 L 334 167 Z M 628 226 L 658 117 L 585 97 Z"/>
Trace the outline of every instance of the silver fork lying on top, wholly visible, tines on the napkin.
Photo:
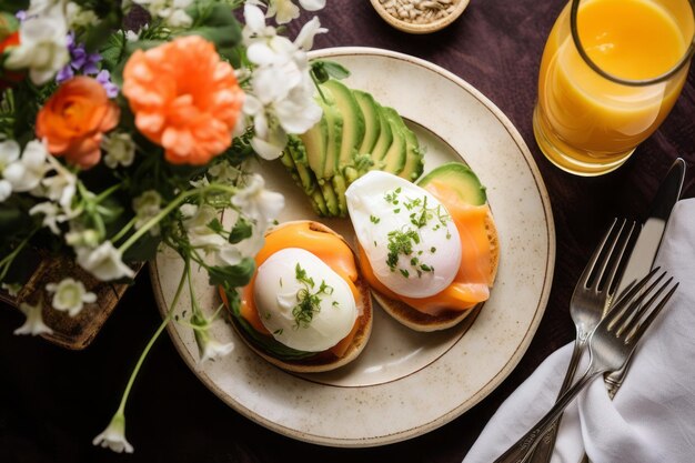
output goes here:
<path id="1" fill-rule="evenodd" d="M 637 284 L 632 285 L 628 291 L 621 294 L 611 312 L 598 322 L 588 338 L 590 362 L 582 378 L 557 400 L 545 416 L 494 463 L 523 463 L 526 461 L 535 449 L 538 437 L 547 432 L 582 389 L 596 376 L 608 371 L 620 370 L 625 364 L 644 332 L 678 288 L 678 283 L 672 284 L 673 276 L 662 283 L 666 272 L 649 283 L 658 270 L 658 268 L 654 269 Z M 647 288 L 645 289 L 645 286 Z M 668 286 L 671 288 L 666 294 L 662 295 Z M 642 291 L 643 289 L 644 291 Z"/>

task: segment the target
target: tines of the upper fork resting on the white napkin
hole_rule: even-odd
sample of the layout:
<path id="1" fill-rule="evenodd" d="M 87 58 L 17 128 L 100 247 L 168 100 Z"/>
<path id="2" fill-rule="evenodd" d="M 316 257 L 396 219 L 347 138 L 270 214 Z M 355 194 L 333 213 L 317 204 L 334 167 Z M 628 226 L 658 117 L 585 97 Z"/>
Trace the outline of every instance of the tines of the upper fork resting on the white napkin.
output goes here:
<path id="1" fill-rule="evenodd" d="M 628 344 L 633 340 L 638 340 L 643 332 L 652 324 L 656 315 L 666 305 L 666 302 L 671 299 L 673 293 L 678 288 L 678 282 L 673 282 L 673 276 L 669 276 L 665 282 L 661 283 L 666 276 L 666 271 L 661 272 L 656 280 L 654 280 L 646 289 L 645 286 L 649 281 L 659 272 L 661 268 L 653 269 L 646 276 L 638 282 L 632 284 L 623 294 L 620 295 L 615 305 L 606 315 L 606 323 L 608 323 L 608 331 L 615 331 L 616 336 L 622 336 L 625 331 L 628 331 L 625 336 L 625 343 Z M 661 285 L 659 285 L 661 283 Z M 658 288 L 655 290 L 655 288 Z M 668 288 L 668 292 L 661 296 L 661 294 Z M 648 299 L 647 296 L 652 294 Z M 659 299 L 661 296 L 661 299 Z M 645 299 L 647 299 L 645 301 Z M 652 309 L 652 306 L 654 309 Z M 652 310 L 649 310 L 652 309 Z"/>

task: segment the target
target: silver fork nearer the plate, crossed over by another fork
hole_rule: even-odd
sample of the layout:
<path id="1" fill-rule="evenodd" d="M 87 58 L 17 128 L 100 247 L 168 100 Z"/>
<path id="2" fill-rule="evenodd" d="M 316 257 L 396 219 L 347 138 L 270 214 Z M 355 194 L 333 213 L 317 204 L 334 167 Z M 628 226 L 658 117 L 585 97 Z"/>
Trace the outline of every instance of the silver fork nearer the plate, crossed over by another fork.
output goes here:
<path id="1" fill-rule="evenodd" d="M 588 334 L 596 328 L 615 295 L 621 270 L 625 266 L 623 256 L 634 231 L 634 221 L 628 222 L 623 219 L 618 223 L 618 220 L 614 219 L 580 276 L 570 300 L 570 314 L 576 329 L 576 338 L 557 397 L 561 397 L 572 385 L 580 360 L 586 351 Z M 557 439 L 560 420 L 557 419 L 551 430 L 538 441 L 537 447 L 528 460 L 530 463 L 550 462 Z"/>

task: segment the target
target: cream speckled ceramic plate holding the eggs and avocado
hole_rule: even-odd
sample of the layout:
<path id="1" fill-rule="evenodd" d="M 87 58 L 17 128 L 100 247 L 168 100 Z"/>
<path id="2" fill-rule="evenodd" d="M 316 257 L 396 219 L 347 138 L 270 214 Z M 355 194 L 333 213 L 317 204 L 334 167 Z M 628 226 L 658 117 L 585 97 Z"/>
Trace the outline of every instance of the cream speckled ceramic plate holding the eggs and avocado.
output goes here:
<path id="1" fill-rule="evenodd" d="M 507 118 L 477 90 L 432 63 L 365 48 L 313 54 L 350 69 L 346 83 L 395 108 L 426 147 L 425 172 L 463 159 L 487 187 L 501 259 L 491 299 L 477 316 L 446 332 L 415 333 L 375 306 L 371 340 L 339 371 L 295 375 L 251 352 L 224 324 L 214 326 L 235 350 L 198 364 L 191 330 L 169 333 L 191 370 L 239 413 L 278 433 L 332 446 L 372 446 L 434 430 L 490 394 L 526 351 L 545 310 L 555 260 L 555 231 L 542 178 Z M 314 219 L 303 192 L 278 162 L 258 165 L 266 185 L 285 194 L 279 220 Z M 350 221 L 323 220 L 350 241 Z M 181 261 L 163 252 L 151 266 L 160 310 L 172 302 Z M 203 272 L 195 275 L 203 308 L 219 299 Z M 188 310 L 182 298 L 178 313 Z"/>

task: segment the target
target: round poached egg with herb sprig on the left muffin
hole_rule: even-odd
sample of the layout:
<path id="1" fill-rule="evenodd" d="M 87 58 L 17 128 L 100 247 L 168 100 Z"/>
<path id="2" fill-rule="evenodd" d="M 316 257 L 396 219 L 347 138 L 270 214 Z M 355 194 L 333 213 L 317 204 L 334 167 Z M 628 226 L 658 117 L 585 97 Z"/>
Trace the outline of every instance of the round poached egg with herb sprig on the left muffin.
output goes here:
<path id="1" fill-rule="evenodd" d="M 284 345 L 321 352 L 352 330 L 357 308 L 350 286 L 309 251 L 286 248 L 258 269 L 254 300 L 263 325 Z"/>

